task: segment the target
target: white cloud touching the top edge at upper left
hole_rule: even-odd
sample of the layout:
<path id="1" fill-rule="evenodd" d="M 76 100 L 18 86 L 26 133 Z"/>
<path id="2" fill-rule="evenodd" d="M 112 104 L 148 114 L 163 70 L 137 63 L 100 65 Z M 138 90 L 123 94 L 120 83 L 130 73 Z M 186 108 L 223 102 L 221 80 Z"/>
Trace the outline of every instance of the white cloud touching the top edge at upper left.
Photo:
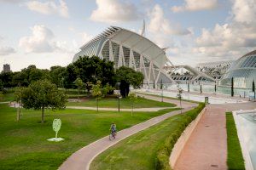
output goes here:
<path id="1" fill-rule="evenodd" d="M 60 4 L 56 4 L 53 1 L 47 1 L 44 3 L 39 1 L 29 1 L 26 3 L 26 7 L 40 14 L 59 14 L 62 17 L 68 18 L 69 14 L 67 3 L 63 0 L 59 0 L 59 3 Z"/>

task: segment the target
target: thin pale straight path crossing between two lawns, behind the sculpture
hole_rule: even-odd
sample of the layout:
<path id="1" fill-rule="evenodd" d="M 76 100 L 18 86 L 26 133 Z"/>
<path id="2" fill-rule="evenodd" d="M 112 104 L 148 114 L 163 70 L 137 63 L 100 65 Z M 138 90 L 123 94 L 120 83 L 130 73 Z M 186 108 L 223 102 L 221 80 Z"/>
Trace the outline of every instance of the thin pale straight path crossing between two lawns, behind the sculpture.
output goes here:
<path id="1" fill-rule="evenodd" d="M 84 106 L 67 106 L 67 109 L 81 109 L 81 110 L 93 110 L 96 111 L 96 107 L 84 107 Z M 162 109 L 170 109 L 173 107 L 152 107 L 152 108 L 135 108 L 133 111 L 160 111 Z M 99 111 L 119 111 L 117 108 L 104 108 L 99 107 Z M 120 109 L 120 111 L 131 111 L 131 109 Z"/>

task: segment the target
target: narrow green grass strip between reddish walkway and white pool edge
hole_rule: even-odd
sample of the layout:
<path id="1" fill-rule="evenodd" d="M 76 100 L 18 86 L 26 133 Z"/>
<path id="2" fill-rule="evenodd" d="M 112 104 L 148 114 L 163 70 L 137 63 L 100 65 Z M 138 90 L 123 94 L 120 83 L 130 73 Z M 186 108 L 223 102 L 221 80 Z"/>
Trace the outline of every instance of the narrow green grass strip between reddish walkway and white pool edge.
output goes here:
<path id="1" fill-rule="evenodd" d="M 241 146 L 237 136 L 236 124 L 231 112 L 226 113 L 226 128 L 228 137 L 228 167 L 230 170 L 245 169 L 244 160 L 241 154 Z"/>

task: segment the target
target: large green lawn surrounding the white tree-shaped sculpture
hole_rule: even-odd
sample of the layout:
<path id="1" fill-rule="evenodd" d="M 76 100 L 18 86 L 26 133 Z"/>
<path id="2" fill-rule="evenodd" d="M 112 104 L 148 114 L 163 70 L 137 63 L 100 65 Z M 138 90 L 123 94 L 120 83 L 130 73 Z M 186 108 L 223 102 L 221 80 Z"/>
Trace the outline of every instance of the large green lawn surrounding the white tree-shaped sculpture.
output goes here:
<path id="1" fill-rule="evenodd" d="M 144 122 L 154 116 L 177 109 L 157 112 L 45 111 L 45 121 L 40 123 L 41 111 L 23 110 L 16 122 L 15 108 L 0 105 L 0 169 L 57 169 L 73 152 L 108 135 L 111 122 L 118 130 Z M 49 142 L 54 138 L 52 122 L 60 118 L 59 137 L 64 141 Z"/>

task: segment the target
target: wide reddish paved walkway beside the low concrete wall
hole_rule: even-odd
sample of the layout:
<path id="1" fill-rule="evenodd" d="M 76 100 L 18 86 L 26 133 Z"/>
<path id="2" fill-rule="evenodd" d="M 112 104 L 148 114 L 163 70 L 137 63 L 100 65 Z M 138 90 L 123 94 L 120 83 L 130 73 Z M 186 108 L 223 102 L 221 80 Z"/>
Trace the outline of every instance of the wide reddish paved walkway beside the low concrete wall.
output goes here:
<path id="1" fill-rule="evenodd" d="M 225 112 L 254 108 L 256 104 L 253 102 L 207 105 L 207 111 L 191 134 L 174 170 L 227 169 Z"/>

